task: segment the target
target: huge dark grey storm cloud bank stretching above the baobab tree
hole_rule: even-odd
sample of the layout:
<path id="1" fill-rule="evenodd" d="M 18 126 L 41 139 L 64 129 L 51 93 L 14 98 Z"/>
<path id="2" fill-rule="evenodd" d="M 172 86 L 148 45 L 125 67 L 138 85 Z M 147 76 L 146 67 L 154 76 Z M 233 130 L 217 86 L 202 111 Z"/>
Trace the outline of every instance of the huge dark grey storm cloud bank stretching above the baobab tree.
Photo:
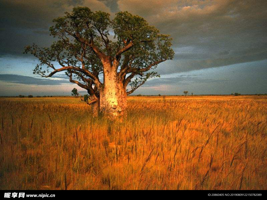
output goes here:
<path id="1" fill-rule="evenodd" d="M 127 10 L 170 34 L 176 54 L 158 67 L 160 74 L 267 58 L 266 0 L 2 0 L 0 55 L 21 55 L 23 47 L 32 43 L 49 46 L 52 20 L 75 6 L 112 16 Z"/>

